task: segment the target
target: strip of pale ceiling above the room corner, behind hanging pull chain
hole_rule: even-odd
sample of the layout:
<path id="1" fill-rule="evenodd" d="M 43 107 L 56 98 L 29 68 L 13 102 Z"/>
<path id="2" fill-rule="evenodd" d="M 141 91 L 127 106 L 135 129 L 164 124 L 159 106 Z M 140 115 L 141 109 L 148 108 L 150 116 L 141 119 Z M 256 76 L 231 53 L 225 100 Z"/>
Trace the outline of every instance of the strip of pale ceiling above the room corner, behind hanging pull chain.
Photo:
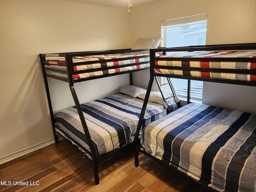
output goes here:
<path id="1" fill-rule="evenodd" d="M 117 7 L 117 8 L 128 8 L 128 0 L 63 0 L 63 1 L 102 5 L 102 6 Z M 138 6 L 155 2 L 155 1 L 159 1 L 159 0 L 131 0 L 132 7 L 138 7 Z"/>

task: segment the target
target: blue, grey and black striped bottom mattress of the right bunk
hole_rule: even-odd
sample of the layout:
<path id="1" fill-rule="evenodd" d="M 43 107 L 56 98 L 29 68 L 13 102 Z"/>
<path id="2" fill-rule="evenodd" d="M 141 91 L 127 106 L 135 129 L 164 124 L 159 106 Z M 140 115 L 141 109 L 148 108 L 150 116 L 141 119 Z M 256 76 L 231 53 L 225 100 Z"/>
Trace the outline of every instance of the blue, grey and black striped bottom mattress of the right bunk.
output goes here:
<path id="1" fill-rule="evenodd" d="M 143 150 L 217 191 L 256 191 L 256 115 L 188 104 L 142 130 Z"/>

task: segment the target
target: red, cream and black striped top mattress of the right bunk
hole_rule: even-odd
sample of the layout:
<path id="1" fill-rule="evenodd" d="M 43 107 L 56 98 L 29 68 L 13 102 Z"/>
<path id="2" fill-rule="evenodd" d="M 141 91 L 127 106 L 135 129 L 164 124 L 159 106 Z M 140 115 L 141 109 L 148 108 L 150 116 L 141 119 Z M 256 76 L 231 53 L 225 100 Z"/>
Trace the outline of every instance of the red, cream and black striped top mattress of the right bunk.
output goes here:
<path id="1" fill-rule="evenodd" d="M 198 58 L 198 61 L 175 61 L 175 60 L 157 60 L 157 66 L 178 66 L 194 68 L 219 68 L 219 69 L 247 69 L 256 70 L 256 63 L 253 62 L 203 62 L 200 58 L 256 58 L 255 51 L 214 51 L 214 52 L 186 52 L 182 54 L 166 55 L 160 58 Z M 225 72 L 201 72 L 196 70 L 172 70 L 158 69 L 154 71 L 160 74 L 172 74 L 181 76 L 194 76 L 206 78 L 220 78 L 230 80 L 256 81 L 256 75 L 236 74 Z"/>

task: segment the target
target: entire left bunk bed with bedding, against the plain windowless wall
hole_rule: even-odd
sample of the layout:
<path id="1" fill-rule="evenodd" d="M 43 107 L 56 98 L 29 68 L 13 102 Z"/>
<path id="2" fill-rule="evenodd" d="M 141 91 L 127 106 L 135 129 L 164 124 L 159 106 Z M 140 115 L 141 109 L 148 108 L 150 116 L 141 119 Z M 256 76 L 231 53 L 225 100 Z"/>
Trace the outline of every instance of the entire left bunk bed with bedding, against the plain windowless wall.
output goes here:
<path id="1" fill-rule="evenodd" d="M 141 54 L 142 51 L 149 49 L 40 54 L 55 142 L 58 132 L 92 160 L 96 184 L 99 184 L 98 163 L 134 146 L 143 105 L 138 96 L 146 90 L 132 85 L 132 72 L 148 69 L 150 65 L 149 53 Z M 130 74 L 130 86 L 121 88 L 119 94 L 84 104 L 79 102 L 75 83 L 125 73 Z M 47 78 L 68 82 L 76 106 L 54 115 Z M 168 101 L 175 108 L 176 99 L 170 97 Z M 167 108 L 166 104 L 149 102 L 143 126 L 166 115 Z"/>

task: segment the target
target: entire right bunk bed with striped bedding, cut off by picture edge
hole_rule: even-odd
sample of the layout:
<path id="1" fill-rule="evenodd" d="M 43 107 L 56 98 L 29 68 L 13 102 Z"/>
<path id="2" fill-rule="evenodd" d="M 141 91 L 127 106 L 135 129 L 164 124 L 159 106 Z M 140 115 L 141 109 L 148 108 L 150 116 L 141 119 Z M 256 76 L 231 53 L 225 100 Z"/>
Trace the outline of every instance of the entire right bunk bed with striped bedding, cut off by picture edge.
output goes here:
<path id="1" fill-rule="evenodd" d="M 160 51 L 167 54 L 156 57 Z M 256 115 L 189 102 L 141 131 L 154 77 L 256 86 L 256 44 L 150 50 L 150 82 L 135 136 L 136 167 L 141 152 L 214 191 L 255 192 Z"/>

